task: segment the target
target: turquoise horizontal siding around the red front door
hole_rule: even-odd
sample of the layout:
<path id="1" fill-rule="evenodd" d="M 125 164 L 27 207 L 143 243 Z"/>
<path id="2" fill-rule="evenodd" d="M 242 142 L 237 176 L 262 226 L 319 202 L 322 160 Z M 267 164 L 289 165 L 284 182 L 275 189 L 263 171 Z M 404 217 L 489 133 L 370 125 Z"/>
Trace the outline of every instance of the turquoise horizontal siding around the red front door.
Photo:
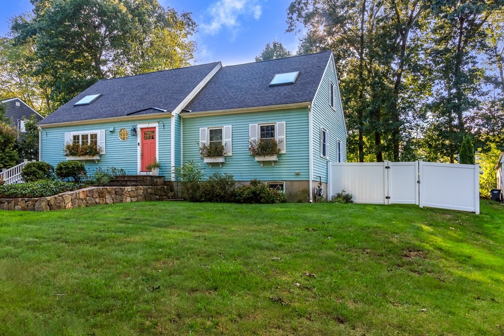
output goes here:
<path id="1" fill-rule="evenodd" d="M 163 123 L 164 122 L 164 129 Z M 116 167 L 123 168 L 127 174 L 136 175 L 138 173 L 138 141 L 137 137 L 131 135 L 131 128 L 140 123 L 158 122 L 159 123 L 159 158 L 161 164 L 159 171 L 160 175 L 170 176 L 171 173 L 171 152 L 170 152 L 170 135 L 171 135 L 171 118 L 142 119 L 132 121 L 110 121 L 103 123 L 75 125 L 75 126 L 60 126 L 60 127 L 44 127 L 42 128 L 42 161 L 48 162 L 56 166 L 61 161 L 67 161 L 65 148 L 65 133 L 86 130 L 105 130 L 105 154 L 101 155 L 98 163 L 93 160 L 86 160 L 85 165 L 88 171 L 94 171 L 98 167 Z M 109 129 L 114 127 L 114 131 Z M 126 141 L 119 140 L 119 129 L 128 129 L 129 138 Z M 140 131 L 140 130 L 138 130 Z M 81 161 L 84 162 L 84 161 Z"/>

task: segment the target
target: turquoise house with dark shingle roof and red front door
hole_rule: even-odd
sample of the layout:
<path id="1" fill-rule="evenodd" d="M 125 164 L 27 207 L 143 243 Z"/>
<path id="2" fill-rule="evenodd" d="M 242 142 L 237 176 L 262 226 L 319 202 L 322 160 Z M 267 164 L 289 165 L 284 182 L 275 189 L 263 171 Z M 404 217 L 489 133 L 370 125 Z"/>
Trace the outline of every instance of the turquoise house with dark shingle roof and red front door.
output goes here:
<path id="1" fill-rule="evenodd" d="M 193 161 L 206 175 L 257 178 L 291 199 L 298 191 L 311 199 L 319 180 L 326 189 L 328 162 L 346 161 L 332 51 L 101 80 L 38 125 L 40 160 L 52 165 L 83 160 L 89 170 L 142 175 L 157 160 L 159 174 L 174 181 L 173 168 Z M 273 139 L 279 154 L 250 155 L 250 146 Z M 66 156 L 68 144 L 92 144 L 100 154 Z M 202 157 L 205 146 L 223 151 Z"/>

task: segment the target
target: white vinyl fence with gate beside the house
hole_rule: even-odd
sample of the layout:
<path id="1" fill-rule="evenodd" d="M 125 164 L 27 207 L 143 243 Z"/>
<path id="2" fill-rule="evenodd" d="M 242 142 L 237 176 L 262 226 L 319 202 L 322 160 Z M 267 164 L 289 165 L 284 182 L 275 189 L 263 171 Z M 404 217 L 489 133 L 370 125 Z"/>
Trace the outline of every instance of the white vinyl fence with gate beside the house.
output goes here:
<path id="1" fill-rule="evenodd" d="M 416 204 L 479 214 L 479 167 L 446 163 L 329 163 L 328 195 L 345 190 L 355 203 Z"/>

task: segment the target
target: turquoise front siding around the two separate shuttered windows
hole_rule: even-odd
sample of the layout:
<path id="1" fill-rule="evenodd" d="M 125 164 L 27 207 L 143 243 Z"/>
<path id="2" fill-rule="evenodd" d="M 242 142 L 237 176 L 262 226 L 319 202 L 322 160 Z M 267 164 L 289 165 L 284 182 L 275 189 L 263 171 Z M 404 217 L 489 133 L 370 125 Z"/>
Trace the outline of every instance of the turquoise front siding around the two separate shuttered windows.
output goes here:
<path id="1" fill-rule="evenodd" d="M 250 123 L 268 123 L 285 121 L 286 153 L 278 155 L 275 166 L 254 160 L 248 154 L 248 125 Z M 237 113 L 217 116 L 183 118 L 183 161 L 194 161 L 206 176 L 215 172 L 232 174 L 235 180 L 248 181 L 254 178 L 263 181 L 296 181 L 309 179 L 308 156 L 308 110 L 289 109 Z M 203 162 L 199 153 L 200 127 L 232 125 L 232 156 L 226 156 L 226 162 L 213 164 L 210 168 Z M 299 172 L 299 175 L 296 175 Z"/>

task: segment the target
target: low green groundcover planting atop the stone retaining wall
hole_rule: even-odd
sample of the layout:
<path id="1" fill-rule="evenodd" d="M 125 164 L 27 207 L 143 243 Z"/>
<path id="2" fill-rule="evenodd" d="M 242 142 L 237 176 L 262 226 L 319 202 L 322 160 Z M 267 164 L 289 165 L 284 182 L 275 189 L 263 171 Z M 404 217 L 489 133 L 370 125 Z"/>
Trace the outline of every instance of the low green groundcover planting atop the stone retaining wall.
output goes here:
<path id="1" fill-rule="evenodd" d="M 84 187 L 83 184 L 51 180 L 5 184 L 0 185 L 0 198 L 47 197 L 82 187 Z"/>

